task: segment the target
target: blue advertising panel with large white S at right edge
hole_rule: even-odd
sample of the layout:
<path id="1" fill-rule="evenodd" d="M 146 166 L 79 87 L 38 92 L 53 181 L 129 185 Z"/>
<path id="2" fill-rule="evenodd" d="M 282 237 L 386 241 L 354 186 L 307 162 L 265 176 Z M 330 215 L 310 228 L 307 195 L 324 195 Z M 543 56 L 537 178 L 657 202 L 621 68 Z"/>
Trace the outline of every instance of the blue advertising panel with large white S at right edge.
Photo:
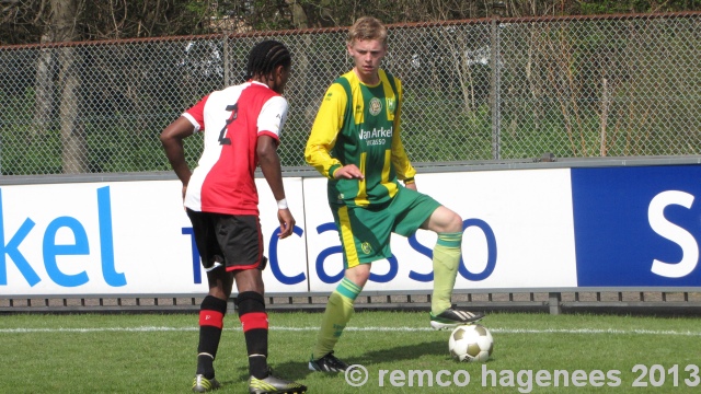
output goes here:
<path id="1" fill-rule="evenodd" d="M 572 169 L 579 287 L 701 286 L 701 166 Z"/>

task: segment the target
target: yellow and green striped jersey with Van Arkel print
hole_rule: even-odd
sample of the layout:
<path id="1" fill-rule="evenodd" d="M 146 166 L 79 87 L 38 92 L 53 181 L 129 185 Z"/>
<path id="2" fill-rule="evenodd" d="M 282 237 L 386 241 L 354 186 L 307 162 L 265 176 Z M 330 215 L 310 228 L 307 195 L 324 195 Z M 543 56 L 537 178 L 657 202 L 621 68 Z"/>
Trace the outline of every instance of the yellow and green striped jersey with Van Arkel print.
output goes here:
<path id="1" fill-rule="evenodd" d="M 326 91 L 307 141 L 304 159 L 329 178 L 331 204 L 368 207 L 388 202 L 399 179 L 416 174 L 400 138 L 401 81 L 379 70 L 380 83 L 367 85 L 349 71 Z M 364 179 L 334 179 L 333 172 L 355 164 Z"/>

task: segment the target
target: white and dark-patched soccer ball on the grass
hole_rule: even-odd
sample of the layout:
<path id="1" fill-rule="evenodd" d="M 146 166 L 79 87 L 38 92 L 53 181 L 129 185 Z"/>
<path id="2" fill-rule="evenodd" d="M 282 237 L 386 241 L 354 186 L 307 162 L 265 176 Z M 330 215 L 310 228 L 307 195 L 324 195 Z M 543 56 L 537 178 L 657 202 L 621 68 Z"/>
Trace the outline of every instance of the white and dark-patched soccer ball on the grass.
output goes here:
<path id="1" fill-rule="evenodd" d="M 457 361 L 484 362 L 492 356 L 494 339 L 485 326 L 461 325 L 452 331 L 448 341 L 450 356 Z"/>

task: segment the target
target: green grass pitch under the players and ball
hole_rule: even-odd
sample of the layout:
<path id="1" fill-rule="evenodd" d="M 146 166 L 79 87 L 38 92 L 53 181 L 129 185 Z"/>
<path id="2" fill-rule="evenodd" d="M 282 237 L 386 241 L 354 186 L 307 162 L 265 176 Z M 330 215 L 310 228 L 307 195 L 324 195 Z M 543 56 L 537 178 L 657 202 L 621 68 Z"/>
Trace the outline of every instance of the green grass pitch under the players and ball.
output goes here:
<path id="1" fill-rule="evenodd" d="M 359 387 L 344 374 L 307 370 L 320 318 L 269 314 L 271 364 L 276 374 L 308 385 L 308 393 L 701 390 L 699 317 L 493 313 L 482 322 L 494 337 L 492 359 L 458 363 L 448 355 L 449 332 L 428 329 L 427 313 L 358 312 L 336 355 L 367 369 Z M 3 315 L 0 392 L 186 393 L 197 335 L 196 314 Z M 233 315 L 225 320 L 215 366 L 223 384 L 218 393 L 248 392 L 245 345 Z"/>

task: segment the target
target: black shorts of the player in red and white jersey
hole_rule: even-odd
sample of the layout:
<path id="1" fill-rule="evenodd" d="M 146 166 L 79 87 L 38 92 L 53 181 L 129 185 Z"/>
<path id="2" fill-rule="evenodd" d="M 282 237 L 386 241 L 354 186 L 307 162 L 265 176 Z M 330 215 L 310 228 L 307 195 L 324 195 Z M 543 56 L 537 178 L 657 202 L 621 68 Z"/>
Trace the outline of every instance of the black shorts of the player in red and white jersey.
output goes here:
<path id="1" fill-rule="evenodd" d="M 223 215 L 187 209 L 205 270 L 223 265 L 234 269 L 264 269 L 261 221 L 254 215 Z"/>

